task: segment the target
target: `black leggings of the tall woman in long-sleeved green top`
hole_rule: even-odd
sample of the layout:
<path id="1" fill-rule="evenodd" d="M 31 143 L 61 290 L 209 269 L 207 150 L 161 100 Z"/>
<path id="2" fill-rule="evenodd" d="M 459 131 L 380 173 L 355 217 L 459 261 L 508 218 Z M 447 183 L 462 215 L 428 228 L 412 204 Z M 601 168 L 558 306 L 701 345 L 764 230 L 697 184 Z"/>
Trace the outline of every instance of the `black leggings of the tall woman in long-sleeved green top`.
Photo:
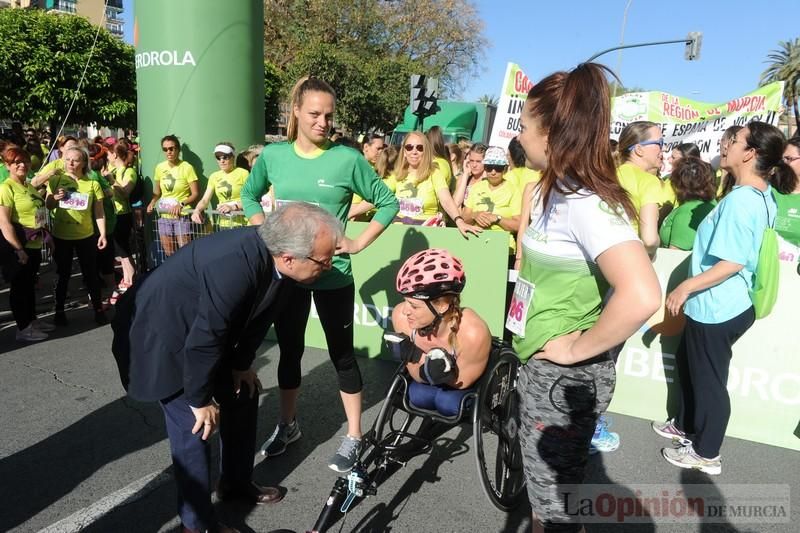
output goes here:
<path id="1" fill-rule="evenodd" d="M 353 304 L 355 285 L 341 289 L 292 289 L 289 305 L 275 321 L 275 332 L 281 355 L 278 363 L 278 386 L 281 389 L 300 387 L 300 360 L 305 347 L 306 324 L 311 312 L 311 294 L 319 314 L 325 340 L 339 378 L 339 390 L 348 394 L 361 392 L 361 371 L 353 353 Z"/>

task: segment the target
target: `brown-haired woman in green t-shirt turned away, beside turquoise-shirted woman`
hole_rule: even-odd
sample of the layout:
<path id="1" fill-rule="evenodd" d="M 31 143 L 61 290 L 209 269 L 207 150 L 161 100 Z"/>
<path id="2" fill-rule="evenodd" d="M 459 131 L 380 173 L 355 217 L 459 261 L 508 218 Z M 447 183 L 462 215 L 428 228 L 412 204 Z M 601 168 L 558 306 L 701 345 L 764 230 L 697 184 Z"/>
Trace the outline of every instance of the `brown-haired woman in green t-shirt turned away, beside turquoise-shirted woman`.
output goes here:
<path id="1" fill-rule="evenodd" d="M 691 250 L 697 227 L 714 209 L 717 186 L 711 165 L 699 157 L 678 160 L 672 169 L 670 183 L 678 207 L 670 211 L 659 230 L 661 246 Z"/>

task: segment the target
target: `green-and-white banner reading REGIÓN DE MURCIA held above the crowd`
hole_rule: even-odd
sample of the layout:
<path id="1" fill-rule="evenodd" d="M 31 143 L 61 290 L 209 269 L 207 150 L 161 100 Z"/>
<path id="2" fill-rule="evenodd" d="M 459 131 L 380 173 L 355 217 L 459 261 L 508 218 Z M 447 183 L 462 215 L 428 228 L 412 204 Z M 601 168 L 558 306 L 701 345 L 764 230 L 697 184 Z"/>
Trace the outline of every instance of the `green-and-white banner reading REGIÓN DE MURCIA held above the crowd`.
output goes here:
<path id="1" fill-rule="evenodd" d="M 614 98 L 611 136 L 617 139 L 631 122 L 649 120 L 661 126 L 665 153 L 681 143 L 694 143 L 703 159 L 715 164 L 719 141 L 730 126 L 743 126 L 751 121 L 778 125 L 782 95 L 783 82 L 770 83 L 721 104 L 698 102 L 662 91 L 627 93 Z M 666 157 L 664 164 L 661 175 L 671 170 Z"/>

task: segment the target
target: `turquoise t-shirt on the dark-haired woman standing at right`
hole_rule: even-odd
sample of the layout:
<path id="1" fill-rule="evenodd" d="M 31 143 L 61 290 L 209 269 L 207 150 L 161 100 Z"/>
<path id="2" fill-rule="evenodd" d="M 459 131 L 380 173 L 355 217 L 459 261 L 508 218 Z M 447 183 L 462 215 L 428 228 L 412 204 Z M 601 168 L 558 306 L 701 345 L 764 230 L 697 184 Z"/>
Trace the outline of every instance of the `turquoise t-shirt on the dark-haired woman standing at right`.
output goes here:
<path id="1" fill-rule="evenodd" d="M 720 324 L 753 305 L 749 291 L 758 251 L 768 220 L 772 222 L 776 212 L 771 187 L 761 192 L 745 185 L 734 187 L 708 214 L 697 228 L 689 275 L 697 276 L 721 260 L 744 268 L 722 283 L 689 296 L 684 306 L 688 317 L 703 324 Z"/>

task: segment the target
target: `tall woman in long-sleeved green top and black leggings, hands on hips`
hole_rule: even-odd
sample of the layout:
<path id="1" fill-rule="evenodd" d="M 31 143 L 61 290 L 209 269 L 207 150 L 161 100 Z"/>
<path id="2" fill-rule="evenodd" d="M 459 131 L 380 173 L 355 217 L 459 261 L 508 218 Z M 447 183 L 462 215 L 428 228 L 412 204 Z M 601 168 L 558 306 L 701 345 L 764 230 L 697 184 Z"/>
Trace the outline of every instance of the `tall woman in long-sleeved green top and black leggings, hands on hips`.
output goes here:
<path id="1" fill-rule="evenodd" d="M 311 298 L 319 313 L 328 353 L 336 369 L 339 393 L 347 416 L 347 434 L 328 462 L 337 472 L 349 471 L 361 448 L 361 390 L 363 383 L 353 347 L 353 305 L 355 284 L 350 255 L 369 246 L 397 213 L 397 200 L 357 150 L 328 140 L 336 107 L 336 93 L 325 81 L 302 78 L 294 86 L 287 127 L 288 142 L 264 147 L 242 188 L 242 206 L 251 224 L 261 224 L 261 197 L 273 187 L 278 206 L 304 201 L 319 205 L 342 224 L 353 194 L 373 204 L 377 211 L 356 238 L 344 238 L 333 262 L 314 257 L 302 261 L 317 263 L 325 272 L 311 285 L 296 285 L 293 304 L 275 320 L 280 346 L 278 386 L 281 413 L 278 426 L 261 452 L 274 457 L 301 437 L 296 420 L 300 394 L 305 330 L 311 313 Z"/>

